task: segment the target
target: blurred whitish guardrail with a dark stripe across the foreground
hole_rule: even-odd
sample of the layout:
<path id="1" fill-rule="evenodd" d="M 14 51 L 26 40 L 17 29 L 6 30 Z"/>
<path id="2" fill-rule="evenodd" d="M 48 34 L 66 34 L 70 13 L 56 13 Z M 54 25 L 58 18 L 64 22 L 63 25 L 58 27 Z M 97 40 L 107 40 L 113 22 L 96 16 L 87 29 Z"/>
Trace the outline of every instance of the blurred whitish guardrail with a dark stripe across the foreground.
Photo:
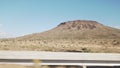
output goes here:
<path id="1" fill-rule="evenodd" d="M 120 54 L 0 51 L 0 64 L 120 66 Z"/>

